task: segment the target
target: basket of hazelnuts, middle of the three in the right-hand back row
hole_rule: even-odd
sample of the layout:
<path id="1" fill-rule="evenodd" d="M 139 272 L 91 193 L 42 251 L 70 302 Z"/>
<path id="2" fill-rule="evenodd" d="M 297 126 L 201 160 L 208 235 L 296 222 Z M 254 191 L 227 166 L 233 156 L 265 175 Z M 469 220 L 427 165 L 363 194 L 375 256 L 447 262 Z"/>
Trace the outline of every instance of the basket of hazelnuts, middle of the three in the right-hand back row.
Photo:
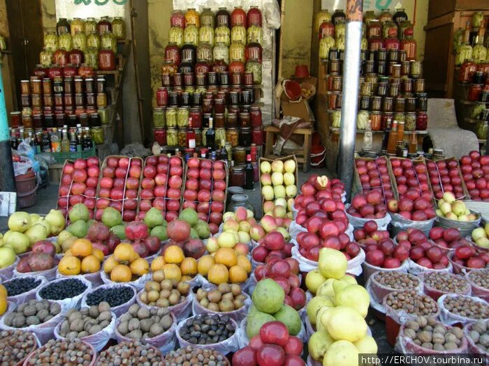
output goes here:
<path id="1" fill-rule="evenodd" d="M 441 295 L 448 293 L 460 293 L 470 295 L 470 284 L 464 277 L 453 273 L 428 271 L 419 273 L 418 277 L 423 282 L 423 293 L 433 300 L 438 300 Z"/>

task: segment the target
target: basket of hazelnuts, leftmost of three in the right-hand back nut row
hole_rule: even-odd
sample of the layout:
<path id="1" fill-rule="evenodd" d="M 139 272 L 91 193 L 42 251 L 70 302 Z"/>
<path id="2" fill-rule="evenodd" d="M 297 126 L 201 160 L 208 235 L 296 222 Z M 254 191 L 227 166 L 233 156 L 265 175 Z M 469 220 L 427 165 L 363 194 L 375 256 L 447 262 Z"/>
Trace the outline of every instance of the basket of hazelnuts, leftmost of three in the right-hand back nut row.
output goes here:
<path id="1" fill-rule="evenodd" d="M 379 271 L 373 273 L 365 286 L 375 300 L 381 303 L 384 297 L 394 291 L 414 290 L 421 293 L 421 280 L 411 273 Z"/>

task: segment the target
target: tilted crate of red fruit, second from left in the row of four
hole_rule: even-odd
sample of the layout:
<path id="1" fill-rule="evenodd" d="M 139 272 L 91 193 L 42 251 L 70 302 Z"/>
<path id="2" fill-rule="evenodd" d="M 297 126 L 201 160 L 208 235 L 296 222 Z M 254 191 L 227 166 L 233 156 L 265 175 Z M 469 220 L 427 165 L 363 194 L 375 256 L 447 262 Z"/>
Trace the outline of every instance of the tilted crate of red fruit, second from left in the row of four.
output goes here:
<path id="1" fill-rule="evenodd" d="M 107 207 L 115 208 L 122 213 L 124 222 L 136 219 L 142 171 L 141 158 L 111 155 L 103 160 L 96 196 L 96 220 L 101 220 Z"/>

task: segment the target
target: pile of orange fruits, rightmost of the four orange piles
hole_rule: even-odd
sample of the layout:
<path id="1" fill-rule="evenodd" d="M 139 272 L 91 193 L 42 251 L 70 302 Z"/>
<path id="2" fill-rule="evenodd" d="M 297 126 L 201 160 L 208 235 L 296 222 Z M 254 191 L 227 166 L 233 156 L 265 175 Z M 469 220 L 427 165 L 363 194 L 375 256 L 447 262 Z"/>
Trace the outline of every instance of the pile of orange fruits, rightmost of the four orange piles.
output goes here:
<path id="1" fill-rule="evenodd" d="M 198 260 L 198 273 L 212 283 L 242 284 L 251 273 L 251 261 L 231 247 L 220 247 L 213 255 Z"/>

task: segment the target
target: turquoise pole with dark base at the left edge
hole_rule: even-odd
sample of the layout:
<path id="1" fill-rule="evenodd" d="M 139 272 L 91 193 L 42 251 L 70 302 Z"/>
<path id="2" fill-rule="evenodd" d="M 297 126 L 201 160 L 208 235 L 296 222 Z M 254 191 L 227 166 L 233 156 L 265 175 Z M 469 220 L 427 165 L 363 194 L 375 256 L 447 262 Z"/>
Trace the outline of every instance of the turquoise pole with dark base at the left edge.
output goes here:
<path id="1" fill-rule="evenodd" d="M 0 55 L 0 190 L 3 192 L 15 192 L 15 175 L 13 174 L 5 89 L 3 89 L 3 77 L 1 73 L 1 59 L 2 56 Z"/>

